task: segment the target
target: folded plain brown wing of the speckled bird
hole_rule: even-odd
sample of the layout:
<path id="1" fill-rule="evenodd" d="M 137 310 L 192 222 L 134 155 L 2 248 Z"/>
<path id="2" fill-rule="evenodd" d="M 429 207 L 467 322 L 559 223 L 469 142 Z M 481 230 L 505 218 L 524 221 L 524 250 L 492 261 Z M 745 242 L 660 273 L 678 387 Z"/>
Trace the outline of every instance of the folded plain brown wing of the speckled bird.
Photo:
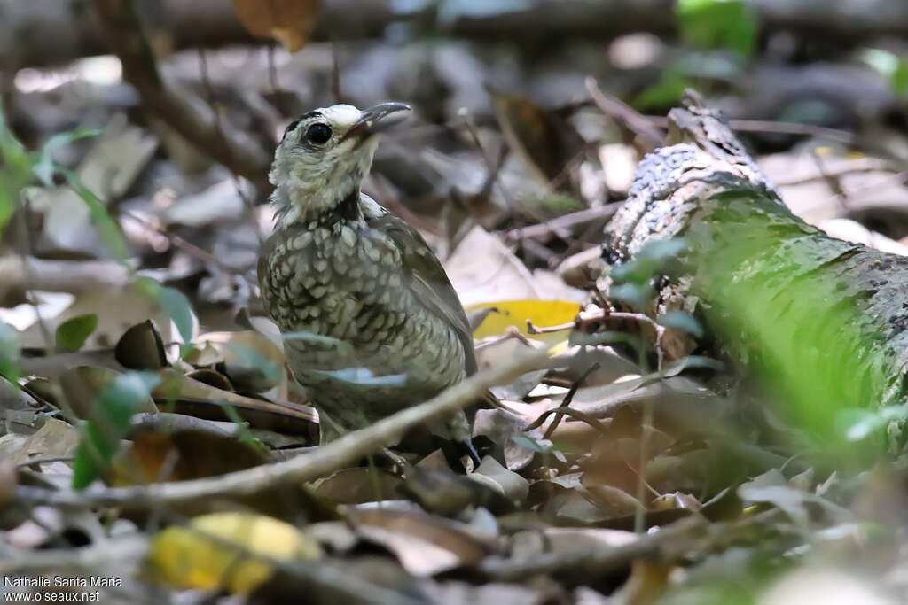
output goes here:
<path id="1" fill-rule="evenodd" d="M 410 289 L 429 312 L 442 317 L 454 328 L 463 346 L 467 376 L 475 373 L 476 352 L 473 348 L 473 335 L 469 329 L 467 314 L 460 305 L 460 299 L 451 286 L 448 274 L 429 248 L 429 244 L 422 239 L 419 231 L 390 212 L 370 212 L 365 218 L 372 229 L 388 236 L 400 249 Z"/>

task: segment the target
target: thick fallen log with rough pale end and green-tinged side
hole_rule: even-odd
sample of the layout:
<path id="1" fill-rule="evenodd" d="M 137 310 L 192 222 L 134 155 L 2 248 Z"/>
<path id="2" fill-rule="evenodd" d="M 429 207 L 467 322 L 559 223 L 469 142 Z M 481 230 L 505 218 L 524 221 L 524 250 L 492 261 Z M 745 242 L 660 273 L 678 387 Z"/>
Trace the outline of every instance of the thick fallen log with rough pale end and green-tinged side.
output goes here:
<path id="1" fill-rule="evenodd" d="M 693 101 L 669 121 L 675 144 L 640 163 L 606 258 L 684 237 L 708 327 L 820 444 L 844 444 L 843 413 L 903 405 L 908 258 L 795 217 L 716 112 Z"/>

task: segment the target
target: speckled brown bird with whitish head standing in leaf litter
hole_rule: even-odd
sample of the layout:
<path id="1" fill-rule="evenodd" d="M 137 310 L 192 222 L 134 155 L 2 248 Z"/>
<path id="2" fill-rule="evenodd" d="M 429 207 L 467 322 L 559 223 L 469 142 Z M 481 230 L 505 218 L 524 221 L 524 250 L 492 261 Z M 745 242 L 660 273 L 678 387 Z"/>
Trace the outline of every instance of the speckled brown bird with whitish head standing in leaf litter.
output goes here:
<path id="1" fill-rule="evenodd" d="M 467 315 L 419 231 L 360 190 L 380 132 L 410 105 L 323 107 L 291 122 L 269 172 L 275 228 L 262 301 L 319 412 L 321 443 L 422 403 L 476 372 Z M 431 434 L 469 442 L 459 412 Z"/>

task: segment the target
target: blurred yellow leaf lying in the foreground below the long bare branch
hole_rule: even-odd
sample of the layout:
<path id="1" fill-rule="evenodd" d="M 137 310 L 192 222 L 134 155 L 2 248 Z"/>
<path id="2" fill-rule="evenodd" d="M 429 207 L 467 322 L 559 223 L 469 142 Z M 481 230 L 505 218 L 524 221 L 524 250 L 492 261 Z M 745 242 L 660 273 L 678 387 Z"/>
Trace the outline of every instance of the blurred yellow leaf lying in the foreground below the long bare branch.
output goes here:
<path id="1" fill-rule="evenodd" d="M 251 512 L 216 512 L 158 533 L 149 562 L 156 577 L 175 586 L 248 594 L 274 573 L 271 563 L 252 554 L 311 560 L 321 557 L 321 547 L 290 523 Z"/>

